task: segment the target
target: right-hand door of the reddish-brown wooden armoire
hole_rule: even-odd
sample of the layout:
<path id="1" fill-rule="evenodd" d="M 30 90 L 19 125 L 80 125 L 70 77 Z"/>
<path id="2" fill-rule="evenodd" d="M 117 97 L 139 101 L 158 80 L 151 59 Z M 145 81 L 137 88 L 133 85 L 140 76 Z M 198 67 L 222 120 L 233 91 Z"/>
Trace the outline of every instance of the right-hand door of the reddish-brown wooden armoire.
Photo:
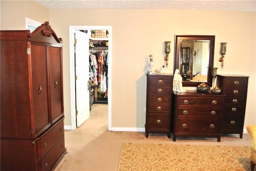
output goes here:
<path id="1" fill-rule="evenodd" d="M 63 114 L 62 97 L 62 48 L 49 47 L 49 69 L 50 69 L 50 111 L 52 122 Z"/>

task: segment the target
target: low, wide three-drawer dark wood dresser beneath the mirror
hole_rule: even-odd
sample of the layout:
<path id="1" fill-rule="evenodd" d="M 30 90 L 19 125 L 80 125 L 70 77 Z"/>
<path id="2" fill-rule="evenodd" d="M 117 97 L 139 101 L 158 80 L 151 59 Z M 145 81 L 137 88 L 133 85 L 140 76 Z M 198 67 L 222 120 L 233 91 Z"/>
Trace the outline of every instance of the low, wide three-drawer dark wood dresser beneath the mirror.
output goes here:
<path id="1" fill-rule="evenodd" d="M 224 95 L 174 92 L 173 141 L 176 137 L 216 137 L 220 142 Z"/>

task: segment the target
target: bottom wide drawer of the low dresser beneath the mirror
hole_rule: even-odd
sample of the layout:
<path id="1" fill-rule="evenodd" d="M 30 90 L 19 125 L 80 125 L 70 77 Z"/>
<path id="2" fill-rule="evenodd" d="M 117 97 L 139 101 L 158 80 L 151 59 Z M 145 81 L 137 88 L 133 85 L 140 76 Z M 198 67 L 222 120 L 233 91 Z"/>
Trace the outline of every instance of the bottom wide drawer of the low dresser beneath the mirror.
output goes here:
<path id="1" fill-rule="evenodd" d="M 176 124 L 176 133 L 220 133 L 220 118 L 178 118 L 178 122 Z"/>

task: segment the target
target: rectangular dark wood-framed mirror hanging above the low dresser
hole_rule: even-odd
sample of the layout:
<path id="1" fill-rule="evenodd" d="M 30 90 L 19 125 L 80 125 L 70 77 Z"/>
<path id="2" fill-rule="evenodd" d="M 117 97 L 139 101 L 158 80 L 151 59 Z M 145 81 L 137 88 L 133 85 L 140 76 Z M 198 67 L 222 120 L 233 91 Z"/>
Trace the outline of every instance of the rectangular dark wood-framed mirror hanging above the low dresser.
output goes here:
<path id="1" fill-rule="evenodd" d="M 184 86 L 212 85 L 214 40 L 215 36 L 176 36 L 174 70 L 180 70 Z"/>

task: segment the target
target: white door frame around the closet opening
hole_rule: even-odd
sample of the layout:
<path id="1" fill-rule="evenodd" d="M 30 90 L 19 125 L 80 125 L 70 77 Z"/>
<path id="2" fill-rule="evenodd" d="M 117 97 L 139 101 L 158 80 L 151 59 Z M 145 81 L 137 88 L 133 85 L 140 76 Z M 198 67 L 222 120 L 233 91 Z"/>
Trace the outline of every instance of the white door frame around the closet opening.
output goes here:
<path id="1" fill-rule="evenodd" d="M 70 115 L 71 129 L 76 129 L 76 91 L 74 30 L 108 30 L 108 130 L 112 130 L 112 26 L 69 26 Z M 89 48 L 89 45 L 88 45 Z"/>

